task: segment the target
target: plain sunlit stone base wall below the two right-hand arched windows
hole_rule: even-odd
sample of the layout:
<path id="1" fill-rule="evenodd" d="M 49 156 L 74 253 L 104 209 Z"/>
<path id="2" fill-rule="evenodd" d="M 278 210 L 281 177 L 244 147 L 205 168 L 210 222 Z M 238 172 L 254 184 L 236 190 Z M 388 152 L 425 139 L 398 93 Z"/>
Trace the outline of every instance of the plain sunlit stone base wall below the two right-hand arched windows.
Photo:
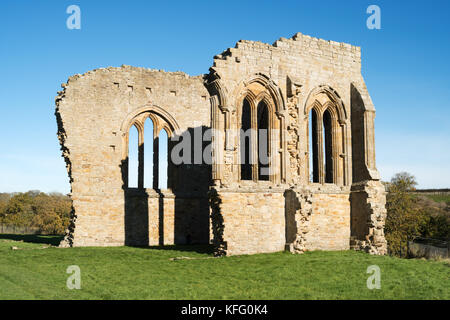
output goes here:
<path id="1" fill-rule="evenodd" d="M 222 253 L 348 250 L 350 192 L 215 189 Z M 215 221 L 213 221 L 213 224 Z"/>

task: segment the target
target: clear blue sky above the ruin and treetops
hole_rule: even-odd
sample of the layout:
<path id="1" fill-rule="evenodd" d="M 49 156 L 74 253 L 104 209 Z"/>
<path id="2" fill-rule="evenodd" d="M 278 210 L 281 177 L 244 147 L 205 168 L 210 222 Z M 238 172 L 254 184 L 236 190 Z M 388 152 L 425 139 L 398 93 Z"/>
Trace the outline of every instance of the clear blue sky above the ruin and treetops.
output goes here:
<path id="1" fill-rule="evenodd" d="M 66 8 L 81 8 L 81 30 Z M 381 8 L 381 30 L 366 8 Z M 301 32 L 362 48 L 377 109 L 377 166 L 419 187 L 450 187 L 450 1 L 0 2 L 0 192 L 68 192 L 54 98 L 76 73 L 122 64 L 207 73 L 240 39 Z"/>

